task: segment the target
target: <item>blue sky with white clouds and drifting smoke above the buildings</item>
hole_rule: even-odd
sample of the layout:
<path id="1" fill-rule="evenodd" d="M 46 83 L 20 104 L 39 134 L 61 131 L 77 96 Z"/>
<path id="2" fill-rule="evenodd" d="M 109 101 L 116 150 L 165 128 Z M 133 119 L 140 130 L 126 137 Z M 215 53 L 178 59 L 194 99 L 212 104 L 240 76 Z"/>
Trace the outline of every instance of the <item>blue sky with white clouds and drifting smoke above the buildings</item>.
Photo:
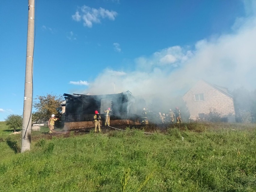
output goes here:
<path id="1" fill-rule="evenodd" d="M 183 94 L 198 79 L 255 89 L 255 0 L 35 3 L 33 97 Z M 0 2 L 0 121 L 22 114 L 26 1 Z"/>

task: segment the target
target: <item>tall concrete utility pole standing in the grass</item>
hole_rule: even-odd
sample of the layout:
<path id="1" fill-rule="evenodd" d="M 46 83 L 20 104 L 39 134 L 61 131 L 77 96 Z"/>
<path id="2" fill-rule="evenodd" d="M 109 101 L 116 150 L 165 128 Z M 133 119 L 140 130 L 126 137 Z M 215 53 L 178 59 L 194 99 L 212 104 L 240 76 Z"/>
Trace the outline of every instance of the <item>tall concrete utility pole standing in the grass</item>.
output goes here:
<path id="1" fill-rule="evenodd" d="M 34 55 L 35 0 L 29 0 L 27 56 L 25 73 L 25 91 L 23 105 L 23 122 L 21 134 L 21 152 L 30 150 L 31 114 L 33 102 L 33 55 Z"/>

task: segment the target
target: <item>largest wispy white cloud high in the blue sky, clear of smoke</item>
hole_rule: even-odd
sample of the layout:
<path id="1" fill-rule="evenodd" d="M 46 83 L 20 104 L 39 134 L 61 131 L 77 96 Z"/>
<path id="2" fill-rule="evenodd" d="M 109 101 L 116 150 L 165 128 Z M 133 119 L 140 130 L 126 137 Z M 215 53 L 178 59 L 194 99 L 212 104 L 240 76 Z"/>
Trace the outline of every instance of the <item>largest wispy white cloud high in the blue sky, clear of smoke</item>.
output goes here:
<path id="1" fill-rule="evenodd" d="M 82 19 L 84 26 L 92 27 L 93 23 L 100 23 L 101 19 L 108 18 L 109 20 L 115 20 L 116 16 L 116 11 L 109 11 L 104 8 L 95 9 L 84 5 L 72 15 L 72 19 L 75 21 Z"/>

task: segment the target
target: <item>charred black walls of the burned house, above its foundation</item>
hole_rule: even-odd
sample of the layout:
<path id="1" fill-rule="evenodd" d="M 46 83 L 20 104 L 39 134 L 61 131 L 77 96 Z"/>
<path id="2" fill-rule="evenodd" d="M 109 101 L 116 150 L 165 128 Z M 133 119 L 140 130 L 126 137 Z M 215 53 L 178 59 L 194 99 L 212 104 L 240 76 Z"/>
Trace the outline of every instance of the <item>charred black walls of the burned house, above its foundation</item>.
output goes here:
<path id="1" fill-rule="evenodd" d="M 64 94 L 66 99 L 65 122 L 91 121 L 93 120 L 94 111 L 100 111 L 102 119 L 105 118 L 104 109 L 101 109 L 102 99 L 111 99 L 111 120 L 130 119 L 136 121 L 138 113 L 142 109 L 137 109 L 139 103 L 130 93 L 118 93 L 109 95 L 80 95 L 74 96 Z M 145 102 L 145 101 L 144 101 Z"/>

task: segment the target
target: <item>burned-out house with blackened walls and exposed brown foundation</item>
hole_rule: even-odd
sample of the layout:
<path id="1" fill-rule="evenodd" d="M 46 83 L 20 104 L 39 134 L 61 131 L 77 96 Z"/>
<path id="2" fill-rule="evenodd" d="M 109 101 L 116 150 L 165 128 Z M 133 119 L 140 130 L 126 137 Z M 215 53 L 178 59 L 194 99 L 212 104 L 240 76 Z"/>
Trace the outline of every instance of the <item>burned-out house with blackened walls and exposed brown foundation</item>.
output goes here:
<path id="1" fill-rule="evenodd" d="M 139 124 L 139 117 L 145 100 L 134 97 L 130 91 L 108 95 L 82 95 L 64 93 L 66 104 L 62 113 L 65 129 L 93 127 L 94 111 L 105 120 L 105 109 L 111 108 L 111 126 L 120 124 Z M 104 123 L 103 123 L 104 124 Z"/>

